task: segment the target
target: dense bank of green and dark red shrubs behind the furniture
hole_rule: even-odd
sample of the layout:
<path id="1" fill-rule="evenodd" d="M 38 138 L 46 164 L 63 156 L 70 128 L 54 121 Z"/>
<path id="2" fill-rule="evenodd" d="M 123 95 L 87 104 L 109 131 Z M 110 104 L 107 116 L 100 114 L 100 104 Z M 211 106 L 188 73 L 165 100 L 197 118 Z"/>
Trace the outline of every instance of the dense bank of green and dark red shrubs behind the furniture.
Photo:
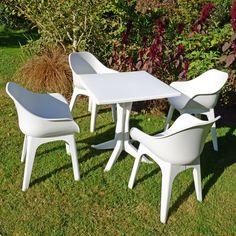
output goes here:
<path id="1" fill-rule="evenodd" d="M 3 0 L 8 12 L 31 21 L 42 48 L 88 50 L 119 71 L 146 70 L 170 83 L 210 68 L 230 74 L 235 92 L 236 0 Z M 32 50 L 33 49 L 33 50 Z"/>

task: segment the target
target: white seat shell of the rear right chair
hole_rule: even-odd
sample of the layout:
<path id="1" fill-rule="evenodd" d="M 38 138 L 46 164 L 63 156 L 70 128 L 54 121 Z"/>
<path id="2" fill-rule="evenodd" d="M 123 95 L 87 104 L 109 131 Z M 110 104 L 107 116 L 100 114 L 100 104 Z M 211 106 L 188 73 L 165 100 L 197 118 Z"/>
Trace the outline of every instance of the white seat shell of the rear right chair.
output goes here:
<path id="1" fill-rule="evenodd" d="M 171 103 L 177 108 L 186 111 L 204 111 L 214 108 L 221 88 L 224 86 L 228 78 L 226 72 L 211 69 L 190 81 L 174 82 L 171 84 L 174 88 L 183 93 Z"/>

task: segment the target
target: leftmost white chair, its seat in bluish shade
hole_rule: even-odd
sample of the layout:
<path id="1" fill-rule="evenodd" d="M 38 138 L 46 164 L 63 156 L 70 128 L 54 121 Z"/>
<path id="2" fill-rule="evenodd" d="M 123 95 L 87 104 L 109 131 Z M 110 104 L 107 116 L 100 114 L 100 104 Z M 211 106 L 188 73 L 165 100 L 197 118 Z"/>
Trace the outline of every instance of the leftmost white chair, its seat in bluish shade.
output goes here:
<path id="1" fill-rule="evenodd" d="M 71 154 L 74 179 L 79 180 L 79 165 L 74 133 L 79 126 L 73 121 L 65 98 L 58 93 L 39 94 L 9 82 L 6 92 L 15 103 L 20 130 L 25 135 L 21 161 L 25 161 L 22 191 L 29 187 L 36 150 L 39 145 L 63 140 Z"/>

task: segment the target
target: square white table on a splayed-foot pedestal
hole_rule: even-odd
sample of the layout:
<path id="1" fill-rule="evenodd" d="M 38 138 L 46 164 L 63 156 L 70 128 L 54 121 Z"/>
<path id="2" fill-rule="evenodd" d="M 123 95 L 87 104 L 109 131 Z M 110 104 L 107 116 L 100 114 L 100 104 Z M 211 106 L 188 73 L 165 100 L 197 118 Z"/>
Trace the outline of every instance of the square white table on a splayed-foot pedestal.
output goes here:
<path id="1" fill-rule="evenodd" d="M 84 74 L 81 83 L 97 105 L 117 104 L 117 123 L 113 140 L 93 145 L 96 149 L 113 149 L 105 167 L 109 171 L 125 150 L 136 157 L 137 149 L 130 143 L 129 117 L 132 103 L 179 96 L 180 93 L 145 71 L 109 74 Z"/>

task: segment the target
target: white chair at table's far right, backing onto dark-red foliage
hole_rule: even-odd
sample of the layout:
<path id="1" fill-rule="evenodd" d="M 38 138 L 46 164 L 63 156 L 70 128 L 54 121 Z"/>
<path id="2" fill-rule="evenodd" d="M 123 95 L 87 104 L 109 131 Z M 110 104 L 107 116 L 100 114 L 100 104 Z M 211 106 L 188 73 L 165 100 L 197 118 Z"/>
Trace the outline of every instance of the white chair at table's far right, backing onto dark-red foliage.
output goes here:
<path id="1" fill-rule="evenodd" d="M 216 69 L 211 69 L 189 81 L 177 81 L 170 84 L 171 87 L 181 92 L 181 96 L 168 98 L 170 103 L 166 119 L 165 130 L 170 125 L 174 110 L 180 114 L 206 115 L 208 120 L 215 117 L 214 107 L 217 103 L 220 90 L 226 83 L 228 74 Z M 213 147 L 218 151 L 216 125 L 211 129 Z"/>

